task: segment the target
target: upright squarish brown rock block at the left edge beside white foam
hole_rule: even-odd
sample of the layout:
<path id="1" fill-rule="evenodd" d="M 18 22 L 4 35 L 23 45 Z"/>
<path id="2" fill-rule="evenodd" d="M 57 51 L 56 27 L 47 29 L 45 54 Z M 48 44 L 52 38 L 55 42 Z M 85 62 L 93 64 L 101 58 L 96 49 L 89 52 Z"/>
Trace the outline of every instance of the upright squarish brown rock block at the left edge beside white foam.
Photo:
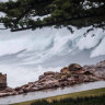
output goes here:
<path id="1" fill-rule="evenodd" d="M 0 91 L 7 88 L 7 74 L 0 73 Z"/>

